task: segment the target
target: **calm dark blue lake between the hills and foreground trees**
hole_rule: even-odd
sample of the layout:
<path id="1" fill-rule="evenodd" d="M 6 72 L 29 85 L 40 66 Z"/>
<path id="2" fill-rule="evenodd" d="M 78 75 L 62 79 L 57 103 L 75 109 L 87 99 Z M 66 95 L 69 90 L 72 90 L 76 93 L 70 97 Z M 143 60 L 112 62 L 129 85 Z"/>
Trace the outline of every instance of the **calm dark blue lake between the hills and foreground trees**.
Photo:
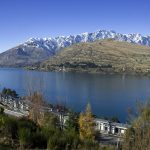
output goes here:
<path id="1" fill-rule="evenodd" d="M 150 77 L 88 73 L 38 72 L 0 68 L 0 90 L 12 88 L 21 96 L 40 90 L 49 103 L 80 112 L 89 102 L 100 117 L 117 116 L 126 122 L 128 108 L 150 97 Z"/>

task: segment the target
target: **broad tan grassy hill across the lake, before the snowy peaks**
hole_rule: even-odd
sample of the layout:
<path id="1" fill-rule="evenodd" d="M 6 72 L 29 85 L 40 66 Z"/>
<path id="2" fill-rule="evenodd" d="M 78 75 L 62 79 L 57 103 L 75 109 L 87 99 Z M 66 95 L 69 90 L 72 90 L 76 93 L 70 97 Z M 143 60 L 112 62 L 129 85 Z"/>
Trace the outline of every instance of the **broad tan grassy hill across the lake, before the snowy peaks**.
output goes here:
<path id="1" fill-rule="evenodd" d="M 50 71 L 150 72 L 150 47 L 112 39 L 74 44 L 41 64 Z"/>

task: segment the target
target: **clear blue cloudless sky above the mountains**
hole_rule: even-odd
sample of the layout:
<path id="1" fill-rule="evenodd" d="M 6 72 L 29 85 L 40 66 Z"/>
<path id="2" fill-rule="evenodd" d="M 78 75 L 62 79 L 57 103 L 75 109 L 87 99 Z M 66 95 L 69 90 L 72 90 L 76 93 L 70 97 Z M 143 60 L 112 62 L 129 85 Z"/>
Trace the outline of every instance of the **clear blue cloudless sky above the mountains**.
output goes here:
<path id="1" fill-rule="evenodd" d="M 98 29 L 150 35 L 150 0 L 0 0 L 0 52 L 30 37 Z"/>

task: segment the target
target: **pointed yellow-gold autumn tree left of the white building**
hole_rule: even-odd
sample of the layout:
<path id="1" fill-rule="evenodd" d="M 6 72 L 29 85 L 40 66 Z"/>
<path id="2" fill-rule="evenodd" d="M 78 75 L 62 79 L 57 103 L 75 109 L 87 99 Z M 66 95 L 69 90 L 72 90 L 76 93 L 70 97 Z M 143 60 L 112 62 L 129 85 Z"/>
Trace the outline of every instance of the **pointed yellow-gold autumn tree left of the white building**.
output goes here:
<path id="1" fill-rule="evenodd" d="M 91 106 L 88 103 L 86 107 L 86 111 L 81 113 L 79 116 L 79 131 L 80 131 L 80 138 L 81 139 L 89 139 L 94 140 L 95 138 L 95 131 L 94 131 L 94 118 L 91 112 Z"/>

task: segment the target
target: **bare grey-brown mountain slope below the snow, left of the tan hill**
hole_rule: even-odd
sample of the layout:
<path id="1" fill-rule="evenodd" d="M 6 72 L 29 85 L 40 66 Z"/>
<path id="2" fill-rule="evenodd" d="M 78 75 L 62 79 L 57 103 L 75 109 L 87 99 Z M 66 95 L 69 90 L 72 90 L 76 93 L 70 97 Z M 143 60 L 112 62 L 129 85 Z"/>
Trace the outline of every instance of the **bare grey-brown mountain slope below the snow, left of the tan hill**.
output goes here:
<path id="1" fill-rule="evenodd" d="M 1 67 L 25 67 L 40 63 L 51 56 L 51 52 L 42 48 L 19 45 L 0 54 Z"/>

